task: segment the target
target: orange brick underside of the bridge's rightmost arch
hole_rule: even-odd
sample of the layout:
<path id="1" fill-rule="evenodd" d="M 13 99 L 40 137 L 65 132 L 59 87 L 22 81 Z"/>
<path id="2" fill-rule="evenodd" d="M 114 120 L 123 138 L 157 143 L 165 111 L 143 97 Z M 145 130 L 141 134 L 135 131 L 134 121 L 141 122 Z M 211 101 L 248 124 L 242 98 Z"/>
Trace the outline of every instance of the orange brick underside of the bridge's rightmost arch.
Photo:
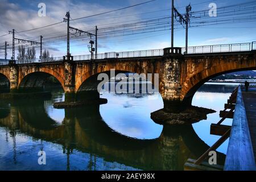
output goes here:
<path id="1" fill-rule="evenodd" d="M 234 61 L 233 63 L 220 64 L 215 67 L 204 69 L 203 71 L 196 73 L 196 75 L 193 75 L 182 84 L 180 99 L 181 101 L 191 102 L 194 94 L 200 88 L 200 86 L 216 76 L 254 69 L 256 69 L 256 60 L 251 60 L 247 63 Z"/>

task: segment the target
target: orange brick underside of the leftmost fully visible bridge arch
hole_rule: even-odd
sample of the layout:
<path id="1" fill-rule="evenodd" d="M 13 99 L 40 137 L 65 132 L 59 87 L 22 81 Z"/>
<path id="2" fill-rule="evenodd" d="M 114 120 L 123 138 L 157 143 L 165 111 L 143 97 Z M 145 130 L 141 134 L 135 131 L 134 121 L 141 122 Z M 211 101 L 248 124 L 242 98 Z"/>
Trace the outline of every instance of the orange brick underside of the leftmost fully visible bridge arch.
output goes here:
<path id="1" fill-rule="evenodd" d="M 44 78 L 51 75 L 51 76 L 55 77 L 60 82 L 62 88 L 64 89 L 64 78 L 61 77 L 59 75 L 59 73 L 53 71 L 52 69 L 48 69 L 48 68 L 40 68 L 38 71 L 28 71 L 28 72 L 26 72 L 26 75 L 20 76 L 19 82 L 18 82 L 18 88 L 23 87 L 23 86 L 26 87 L 25 82 L 27 82 L 29 77 L 32 76 L 34 73 L 35 73 L 34 85 L 42 86 L 42 84 L 44 82 Z M 46 74 L 44 74 L 44 73 L 46 73 Z"/>

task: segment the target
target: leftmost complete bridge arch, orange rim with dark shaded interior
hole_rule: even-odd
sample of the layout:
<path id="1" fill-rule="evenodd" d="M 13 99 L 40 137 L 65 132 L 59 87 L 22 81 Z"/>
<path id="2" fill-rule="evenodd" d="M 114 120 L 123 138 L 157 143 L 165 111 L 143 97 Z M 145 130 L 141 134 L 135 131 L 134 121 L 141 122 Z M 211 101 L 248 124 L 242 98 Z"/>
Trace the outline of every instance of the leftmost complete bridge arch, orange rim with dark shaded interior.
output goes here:
<path id="1" fill-rule="evenodd" d="M 26 72 L 24 75 L 19 76 L 18 88 L 33 88 L 33 87 L 42 87 L 45 78 L 53 76 L 56 80 L 59 81 L 61 87 L 64 90 L 64 78 L 59 75 L 59 73 L 53 71 L 48 68 L 40 68 L 38 71 L 30 70 Z"/>

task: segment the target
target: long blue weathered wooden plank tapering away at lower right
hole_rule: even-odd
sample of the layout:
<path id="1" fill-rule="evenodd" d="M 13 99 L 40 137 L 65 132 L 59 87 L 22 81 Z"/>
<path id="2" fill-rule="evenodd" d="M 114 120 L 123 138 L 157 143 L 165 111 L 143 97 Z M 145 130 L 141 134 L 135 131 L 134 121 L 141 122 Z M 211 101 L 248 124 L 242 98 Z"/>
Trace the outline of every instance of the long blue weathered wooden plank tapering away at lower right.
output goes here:
<path id="1" fill-rule="evenodd" d="M 225 171 L 255 171 L 255 160 L 243 104 L 241 88 L 238 88 L 236 109 L 230 133 Z"/>

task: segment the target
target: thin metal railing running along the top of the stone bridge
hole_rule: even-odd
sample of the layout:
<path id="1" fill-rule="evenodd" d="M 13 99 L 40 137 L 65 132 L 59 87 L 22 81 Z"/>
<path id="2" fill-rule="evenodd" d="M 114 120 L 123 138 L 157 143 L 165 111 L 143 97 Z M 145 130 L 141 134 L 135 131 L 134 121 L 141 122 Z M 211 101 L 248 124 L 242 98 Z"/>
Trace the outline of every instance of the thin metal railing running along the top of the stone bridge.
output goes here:
<path id="1" fill-rule="evenodd" d="M 188 47 L 187 54 L 196 53 L 220 53 L 220 52 L 242 52 L 256 50 L 256 42 L 251 43 L 237 43 L 237 44 L 220 44 L 210 46 L 193 46 Z M 181 53 L 185 53 L 185 48 L 181 48 Z M 127 51 L 127 52 L 106 52 L 98 53 L 97 60 L 102 59 L 115 59 L 115 58 L 132 58 L 132 57 L 153 57 L 163 56 L 163 49 L 152 49 L 143 51 Z M 96 55 L 77 55 L 73 56 L 74 61 L 89 61 L 96 59 Z M 59 62 L 63 61 L 63 57 L 49 57 L 47 59 L 34 59 L 34 60 L 16 60 L 17 64 L 29 64 L 29 63 L 47 63 L 47 62 Z M 0 61 L 0 65 L 6 65 L 8 61 Z"/>

